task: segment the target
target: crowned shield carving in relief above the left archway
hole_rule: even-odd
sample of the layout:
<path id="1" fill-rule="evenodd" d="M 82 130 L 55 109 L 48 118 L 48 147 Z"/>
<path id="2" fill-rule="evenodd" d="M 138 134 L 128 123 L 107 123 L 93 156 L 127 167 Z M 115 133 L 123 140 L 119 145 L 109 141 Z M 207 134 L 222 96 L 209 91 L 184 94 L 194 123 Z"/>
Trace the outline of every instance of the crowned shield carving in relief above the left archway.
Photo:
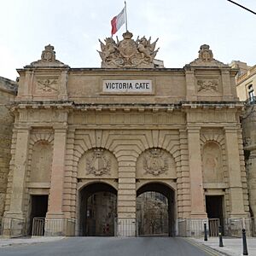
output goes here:
<path id="1" fill-rule="evenodd" d="M 94 174 L 102 176 L 109 174 L 111 168 L 111 160 L 104 154 L 104 149 L 95 148 L 93 154 L 86 159 L 86 174 Z"/>

